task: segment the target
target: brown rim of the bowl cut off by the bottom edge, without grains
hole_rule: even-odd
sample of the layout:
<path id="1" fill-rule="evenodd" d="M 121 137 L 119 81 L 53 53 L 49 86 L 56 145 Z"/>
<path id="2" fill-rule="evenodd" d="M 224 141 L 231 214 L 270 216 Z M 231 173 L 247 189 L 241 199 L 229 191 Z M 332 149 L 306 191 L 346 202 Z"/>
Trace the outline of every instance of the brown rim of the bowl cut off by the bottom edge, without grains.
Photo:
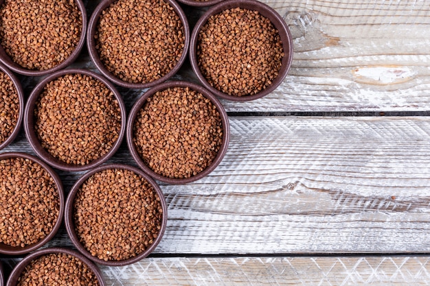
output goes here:
<path id="1" fill-rule="evenodd" d="M 22 272 L 25 270 L 25 267 L 27 267 L 27 265 L 29 265 L 35 259 L 38 259 L 39 257 L 42 257 L 43 255 L 46 255 L 46 254 L 59 254 L 59 253 L 69 254 L 69 255 L 75 257 L 76 259 L 79 259 L 80 261 L 82 261 L 82 263 L 87 265 L 89 270 L 91 270 L 93 272 L 93 274 L 95 274 L 95 277 L 98 280 L 98 285 L 100 285 L 100 286 L 105 285 L 104 280 L 103 280 L 103 276 L 102 276 L 102 272 L 100 272 L 100 269 L 97 267 L 97 265 L 95 265 L 94 263 L 89 261 L 89 259 L 87 259 L 87 257 L 84 257 L 82 254 L 80 254 L 76 250 L 71 250 L 71 249 L 67 249 L 67 248 L 44 248 L 42 250 L 37 250 L 37 251 L 33 252 L 32 254 L 27 255 L 27 257 L 25 257 L 22 261 L 20 261 L 14 267 L 14 269 L 10 273 L 10 276 L 8 278 L 8 282 L 6 285 L 16 286 L 18 284 L 19 277 L 21 276 Z"/>

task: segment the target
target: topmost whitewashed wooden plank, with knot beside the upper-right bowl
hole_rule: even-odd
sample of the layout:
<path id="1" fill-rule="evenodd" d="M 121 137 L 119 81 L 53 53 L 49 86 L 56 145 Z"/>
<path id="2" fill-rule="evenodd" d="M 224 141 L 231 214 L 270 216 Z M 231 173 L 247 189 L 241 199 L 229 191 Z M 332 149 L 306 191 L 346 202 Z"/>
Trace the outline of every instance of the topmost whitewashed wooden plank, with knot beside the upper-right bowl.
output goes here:
<path id="1" fill-rule="evenodd" d="M 430 107 L 430 0 L 264 0 L 294 38 L 290 73 L 253 102 L 227 111 L 399 111 Z M 86 1 L 90 15 L 98 1 Z M 183 5 L 194 23 L 201 8 Z M 95 70 L 86 48 L 73 67 Z M 190 64 L 175 80 L 197 82 Z M 35 79 L 22 78 L 30 92 Z M 36 79 L 37 81 L 38 79 Z M 120 88 L 124 98 L 144 90 Z"/>

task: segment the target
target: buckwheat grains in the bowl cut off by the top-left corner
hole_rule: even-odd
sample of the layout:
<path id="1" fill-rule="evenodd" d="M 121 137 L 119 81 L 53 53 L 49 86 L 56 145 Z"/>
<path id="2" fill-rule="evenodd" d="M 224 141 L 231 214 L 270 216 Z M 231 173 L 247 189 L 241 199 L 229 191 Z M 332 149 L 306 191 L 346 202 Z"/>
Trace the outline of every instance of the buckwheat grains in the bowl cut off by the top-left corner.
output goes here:
<path id="1" fill-rule="evenodd" d="M 5 0 L 0 9 L 0 45 L 25 69 L 43 71 L 64 62 L 81 30 L 74 0 Z"/>

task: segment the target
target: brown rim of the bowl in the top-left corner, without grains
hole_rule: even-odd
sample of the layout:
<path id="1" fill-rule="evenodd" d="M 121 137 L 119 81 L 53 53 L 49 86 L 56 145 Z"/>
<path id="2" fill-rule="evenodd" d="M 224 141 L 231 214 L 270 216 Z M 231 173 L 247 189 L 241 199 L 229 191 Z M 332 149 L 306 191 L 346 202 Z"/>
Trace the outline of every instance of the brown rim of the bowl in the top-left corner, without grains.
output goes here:
<path id="1" fill-rule="evenodd" d="M 16 64 L 16 62 L 12 61 L 10 56 L 8 56 L 8 54 L 4 51 L 3 47 L 1 46 L 0 46 L 0 61 L 15 73 L 19 73 L 21 75 L 28 75 L 28 76 L 47 75 L 49 73 L 53 73 L 54 71 L 64 69 L 65 67 L 68 67 L 70 64 L 72 64 L 76 60 L 76 58 L 78 58 L 79 53 L 82 50 L 82 47 L 84 47 L 85 33 L 87 32 L 87 10 L 85 9 L 85 5 L 82 2 L 82 0 L 75 0 L 75 2 L 76 2 L 76 5 L 78 5 L 78 9 L 80 10 L 80 13 L 82 15 L 82 29 L 80 32 L 78 45 L 76 45 L 76 48 L 73 50 L 69 58 L 67 58 L 64 62 L 61 62 L 55 67 L 52 67 L 51 69 L 45 69 L 43 71 L 25 69 L 24 67 L 21 67 L 21 65 Z M 0 5 L 3 5 L 3 3 L 4 3 L 4 0 L 0 0 Z"/>

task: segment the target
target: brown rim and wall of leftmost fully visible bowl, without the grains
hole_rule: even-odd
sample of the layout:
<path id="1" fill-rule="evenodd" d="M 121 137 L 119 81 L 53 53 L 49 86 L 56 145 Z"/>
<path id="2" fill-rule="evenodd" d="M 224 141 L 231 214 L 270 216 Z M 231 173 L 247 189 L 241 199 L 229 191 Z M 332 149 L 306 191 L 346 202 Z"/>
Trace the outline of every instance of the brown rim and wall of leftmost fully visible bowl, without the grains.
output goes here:
<path id="1" fill-rule="evenodd" d="M 117 141 L 113 144 L 109 152 L 107 152 L 106 154 L 104 154 L 104 156 L 101 156 L 100 158 L 92 160 L 87 165 L 67 164 L 63 160 L 55 158 L 54 156 L 52 156 L 52 154 L 49 154 L 49 152 L 47 152 L 45 148 L 42 147 L 41 141 L 38 140 L 38 136 L 36 135 L 36 131 L 34 130 L 34 124 L 35 124 L 34 108 L 36 105 L 36 101 L 39 95 L 41 95 L 41 93 L 43 92 L 43 89 L 45 88 L 45 86 L 52 80 L 56 80 L 56 78 L 59 78 L 62 75 L 76 74 L 76 73 L 89 75 L 92 78 L 95 78 L 100 82 L 103 82 L 106 85 L 106 87 L 113 92 L 115 99 L 117 99 L 117 102 L 120 105 L 121 117 L 122 117 L 119 137 Z M 45 78 L 42 82 L 37 84 L 37 86 L 33 89 L 32 93 L 30 94 L 30 97 L 28 98 L 27 105 L 25 106 L 24 129 L 25 129 L 25 135 L 27 136 L 27 139 L 30 142 L 30 145 L 32 146 L 34 152 L 36 152 L 38 156 L 40 156 L 43 160 L 45 160 L 46 163 L 48 163 L 52 167 L 55 167 L 63 171 L 84 171 L 104 163 L 106 160 L 111 158 L 111 156 L 113 156 L 113 154 L 115 154 L 115 152 L 118 150 L 118 148 L 122 143 L 122 139 L 124 137 L 124 133 L 126 130 L 126 108 L 124 106 L 122 97 L 120 93 L 117 91 L 117 89 L 115 88 L 115 86 L 113 86 L 111 82 L 103 78 L 98 73 L 93 73 L 92 71 L 87 71 L 84 69 L 64 69 L 62 71 L 56 71 L 52 75 L 47 76 L 47 78 Z"/>

